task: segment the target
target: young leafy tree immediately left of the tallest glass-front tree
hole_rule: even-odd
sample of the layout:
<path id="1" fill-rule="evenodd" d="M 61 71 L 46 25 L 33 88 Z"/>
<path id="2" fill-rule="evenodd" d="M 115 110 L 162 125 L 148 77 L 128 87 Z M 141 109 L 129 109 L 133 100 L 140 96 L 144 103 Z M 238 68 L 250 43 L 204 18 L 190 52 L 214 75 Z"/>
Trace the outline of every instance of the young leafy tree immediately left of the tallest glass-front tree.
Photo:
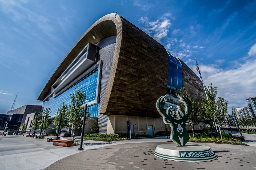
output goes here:
<path id="1" fill-rule="evenodd" d="M 68 115 L 68 107 L 67 104 L 65 102 L 62 103 L 62 106 L 59 107 L 57 113 L 55 114 L 55 118 L 53 120 L 53 124 L 54 124 L 54 129 L 57 129 L 59 126 L 59 119 L 61 117 L 61 113 L 62 113 L 62 120 L 61 120 L 61 125 L 60 125 L 60 129 L 63 129 L 65 127 L 67 127 L 67 124 L 69 123 L 69 115 Z"/>

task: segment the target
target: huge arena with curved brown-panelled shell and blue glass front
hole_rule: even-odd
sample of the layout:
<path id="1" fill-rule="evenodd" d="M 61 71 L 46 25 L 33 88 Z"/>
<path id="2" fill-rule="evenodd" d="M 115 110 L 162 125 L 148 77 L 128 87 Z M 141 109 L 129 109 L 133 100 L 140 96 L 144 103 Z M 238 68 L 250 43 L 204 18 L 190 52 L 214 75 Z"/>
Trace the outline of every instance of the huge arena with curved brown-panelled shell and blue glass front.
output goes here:
<path id="1" fill-rule="evenodd" d="M 175 107 L 182 87 L 196 101 L 204 93 L 202 82 L 183 61 L 116 14 L 103 16 L 82 35 L 38 100 L 54 117 L 63 101 L 70 104 L 77 86 L 86 92 L 90 117 L 98 118 L 101 133 L 125 133 L 130 120 L 131 132 L 153 135 L 165 127 L 155 106 L 159 97 L 167 94 L 165 107 Z"/>

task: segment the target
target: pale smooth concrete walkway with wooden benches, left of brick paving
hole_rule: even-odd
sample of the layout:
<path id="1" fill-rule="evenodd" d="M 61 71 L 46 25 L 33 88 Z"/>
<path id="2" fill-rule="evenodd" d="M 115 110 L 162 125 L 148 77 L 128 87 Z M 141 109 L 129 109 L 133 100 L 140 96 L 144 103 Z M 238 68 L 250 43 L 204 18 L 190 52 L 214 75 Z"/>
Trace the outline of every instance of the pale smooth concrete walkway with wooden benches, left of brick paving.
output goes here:
<path id="1" fill-rule="evenodd" d="M 102 146 L 111 146 L 126 143 L 142 142 L 168 142 L 170 139 L 132 139 L 113 142 L 84 140 L 85 150 L 91 150 Z M 53 146 L 46 139 L 26 138 L 26 136 L 0 136 L 0 169 L 5 170 L 34 170 L 45 169 L 57 160 L 78 152 L 79 146 L 61 147 Z"/>

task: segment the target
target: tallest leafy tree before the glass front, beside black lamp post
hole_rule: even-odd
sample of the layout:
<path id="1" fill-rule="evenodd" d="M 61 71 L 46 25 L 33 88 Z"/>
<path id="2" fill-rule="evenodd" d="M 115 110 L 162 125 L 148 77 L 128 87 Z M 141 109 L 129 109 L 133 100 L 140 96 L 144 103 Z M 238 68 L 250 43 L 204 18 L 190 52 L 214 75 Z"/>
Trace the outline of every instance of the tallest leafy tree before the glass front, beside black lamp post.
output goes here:
<path id="1" fill-rule="evenodd" d="M 73 129 L 73 141 L 75 136 L 75 130 L 82 127 L 83 120 L 81 119 L 85 113 L 85 107 L 83 107 L 83 102 L 86 99 L 85 92 L 81 89 L 75 88 L 75 93 L 70 94 L 71 96 L 71 105 L 69 105 L 69 120 Z M 89 117 L 88 112 L 86 112 L 86 119 Z"/>

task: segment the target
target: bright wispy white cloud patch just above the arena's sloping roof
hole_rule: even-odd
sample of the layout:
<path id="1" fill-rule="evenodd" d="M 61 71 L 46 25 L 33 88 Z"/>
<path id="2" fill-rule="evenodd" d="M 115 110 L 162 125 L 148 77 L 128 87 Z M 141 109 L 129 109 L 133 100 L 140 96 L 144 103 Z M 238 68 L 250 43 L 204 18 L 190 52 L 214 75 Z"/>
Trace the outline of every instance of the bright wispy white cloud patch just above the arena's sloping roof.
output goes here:
<path id="1" fill-rule="evenodd" d="M 164 14 L 155 21 L 149 21 L 147 17 L 141 17 L 139 22 L 143 24 L 142 30 L 147 34 L 153 36 L 155 40 L 161 42 L 161 39 L 166 37 L 171 26 L 171 21 L 168 16 L 171 16 L 170 13 Z"/>

